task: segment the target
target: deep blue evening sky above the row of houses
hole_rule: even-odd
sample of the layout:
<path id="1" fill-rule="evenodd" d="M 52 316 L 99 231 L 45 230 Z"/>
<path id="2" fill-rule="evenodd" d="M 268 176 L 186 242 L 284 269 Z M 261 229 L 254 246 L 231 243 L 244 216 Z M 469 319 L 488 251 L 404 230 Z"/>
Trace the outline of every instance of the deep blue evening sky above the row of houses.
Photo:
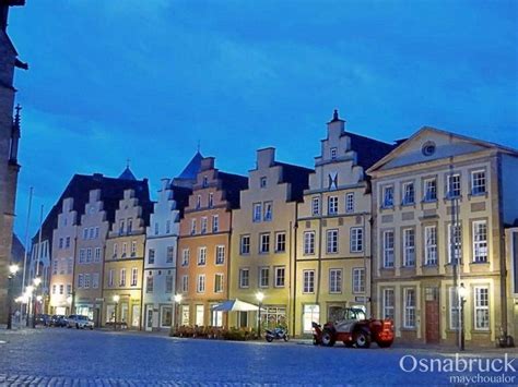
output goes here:
<path id="1" fill-rule="evenodd" d="M 256 149 L 311 167 L 338 108 L 392 142 L 423 125 L 518 148 L 517 1 L 27 0 L 15 230 L 73 173 L 174 177 L 201 142 L 246 174 Z"/>

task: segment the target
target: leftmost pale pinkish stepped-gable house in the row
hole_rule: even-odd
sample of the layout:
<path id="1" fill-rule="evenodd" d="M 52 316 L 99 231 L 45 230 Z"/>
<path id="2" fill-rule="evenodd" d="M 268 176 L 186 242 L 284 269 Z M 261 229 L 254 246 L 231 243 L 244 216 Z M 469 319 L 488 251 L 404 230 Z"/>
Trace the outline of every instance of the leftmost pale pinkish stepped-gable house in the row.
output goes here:
<path id="1" fill-rule="evenodd" d="M 52 235 L 50 313 L 59 315 L 68 315 L 74 310 L 73 257 L 78 234 L 78 211 L 73 209 L 73 197 L 62 201 Z"/>

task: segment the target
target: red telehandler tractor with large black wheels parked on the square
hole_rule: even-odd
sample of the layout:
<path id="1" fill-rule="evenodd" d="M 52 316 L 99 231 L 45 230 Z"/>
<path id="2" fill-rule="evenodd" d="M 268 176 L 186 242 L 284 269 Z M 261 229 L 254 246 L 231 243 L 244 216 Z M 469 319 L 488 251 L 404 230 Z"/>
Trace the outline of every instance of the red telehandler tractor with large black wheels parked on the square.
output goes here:
<path id="1" fill-rule="evenodd" d="M 342 341 L 346 347 L 369 348 L 374 341 L 380 348 L 390 347 L 393 342 L 393 323 L 391 319 L 366 318 L 361 309 L 346 307 L 337 322 L 329 322 L 321 327 L 313 323 L 314 343 L 332 347 Z"/>

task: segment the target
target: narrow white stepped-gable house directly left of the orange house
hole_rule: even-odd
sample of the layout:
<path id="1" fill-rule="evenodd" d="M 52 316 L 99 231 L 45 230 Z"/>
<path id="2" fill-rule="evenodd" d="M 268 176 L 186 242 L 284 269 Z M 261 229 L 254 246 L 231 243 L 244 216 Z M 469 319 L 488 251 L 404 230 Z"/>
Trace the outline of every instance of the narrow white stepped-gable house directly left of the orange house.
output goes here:
<path id="1" fill-rule="evenodd" d="M 176 258 L 180 217 L 191 190 L 162 180 L 146 228 L 144 290 L 142 293 L 145 330 L 169 329 L 175 316 Z"/>

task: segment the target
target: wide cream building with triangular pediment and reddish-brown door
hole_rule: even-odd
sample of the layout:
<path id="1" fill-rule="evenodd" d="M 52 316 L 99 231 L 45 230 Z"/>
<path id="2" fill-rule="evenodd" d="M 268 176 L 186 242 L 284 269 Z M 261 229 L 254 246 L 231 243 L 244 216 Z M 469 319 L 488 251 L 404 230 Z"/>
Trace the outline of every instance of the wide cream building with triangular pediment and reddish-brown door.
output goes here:
<path id="1" fill-rule="evenodd" d="M 518 153 L 423 128 L 373 177 L 373 302 L 403 341 L 468 346 L 508 330 L 504 225 L 518 214 Z"/>

